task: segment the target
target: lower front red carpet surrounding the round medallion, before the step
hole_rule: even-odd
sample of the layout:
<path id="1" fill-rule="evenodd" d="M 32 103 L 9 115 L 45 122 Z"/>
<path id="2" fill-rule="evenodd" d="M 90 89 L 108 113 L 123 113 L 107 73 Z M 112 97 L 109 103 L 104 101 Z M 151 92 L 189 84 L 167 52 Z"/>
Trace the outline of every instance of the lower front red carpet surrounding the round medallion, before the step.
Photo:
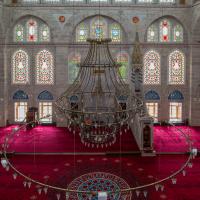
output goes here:
<path id="1" fill-rule="evenodd" d="M 90 172 L 107 172 L 122 177 L 130 186 L 150 183 L 163 178 L 177 169 L 186 156 L 167 156 L 141 158 L 140 156 L 103 157 L 103 156 L 15 156 L 13 162 L 18 169 L 38 180 L 48 178 L 48 183 L 67 187 L 74 178 Z M 187 170 L 186 177 L 179 175 L 177 185 L 171 181 L 165 184 L 163 192 L 155 188 L 148 190 L 148 200 L 199 200 L 200 192 L 200 158 L 194 161 L 192 169 Z M 48 191 L 47 195 L 38 195 L 35 185 L 30 189 L 23 187 L 23 179 L 13 180 L 12 172 L 0 168 L 0 199 L 2 200 L 56 200 L 56 193 Z M 2 197 L 2 198 L 1 198 Z M 64 194 L 62 194 L 64 200 Z M 133 194 L 133 199 L 136 195 Z M 144 200 L 144 198 L 139 198 Z"/>

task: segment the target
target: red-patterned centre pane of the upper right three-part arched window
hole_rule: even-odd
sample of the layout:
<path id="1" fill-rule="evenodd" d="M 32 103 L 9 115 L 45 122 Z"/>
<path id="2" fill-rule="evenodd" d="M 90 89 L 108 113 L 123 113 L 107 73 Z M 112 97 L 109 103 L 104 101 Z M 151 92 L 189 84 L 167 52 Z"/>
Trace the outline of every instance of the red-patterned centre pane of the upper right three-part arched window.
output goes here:
<path id="1" fill-rule="evenodd" d="M 171 24 L 169 20 L 164 19 L 160 22 L 160 42 L 170 42 Z"/>

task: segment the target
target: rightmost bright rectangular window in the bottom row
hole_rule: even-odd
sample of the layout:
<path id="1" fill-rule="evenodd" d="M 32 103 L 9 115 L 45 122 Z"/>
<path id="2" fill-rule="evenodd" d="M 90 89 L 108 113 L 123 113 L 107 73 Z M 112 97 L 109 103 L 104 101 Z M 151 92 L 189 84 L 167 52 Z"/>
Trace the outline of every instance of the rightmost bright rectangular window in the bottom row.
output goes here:
<path id="1" fill-rule="evenodd" d="M 182 122 L 182 103 L 171 102 L 169 106 L 169 121 Z"/>

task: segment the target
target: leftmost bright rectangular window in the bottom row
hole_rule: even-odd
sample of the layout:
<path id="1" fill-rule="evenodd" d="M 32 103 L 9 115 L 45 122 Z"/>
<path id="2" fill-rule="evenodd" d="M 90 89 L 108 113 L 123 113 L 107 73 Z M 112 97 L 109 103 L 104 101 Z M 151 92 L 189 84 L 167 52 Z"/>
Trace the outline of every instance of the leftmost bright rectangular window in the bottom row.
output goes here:
<path id="1" fill-rule="evenodd" d="M 15 102 L 15 122 L 26 121 L 26 113 L 28 110 L 27 102 Z"/>

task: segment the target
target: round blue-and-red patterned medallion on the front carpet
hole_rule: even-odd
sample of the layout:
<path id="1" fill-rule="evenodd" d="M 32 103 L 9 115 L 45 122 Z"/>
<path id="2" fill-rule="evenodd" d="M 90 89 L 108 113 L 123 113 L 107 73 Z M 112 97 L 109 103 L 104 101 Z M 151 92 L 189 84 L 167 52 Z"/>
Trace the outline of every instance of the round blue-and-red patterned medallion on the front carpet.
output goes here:
<path id="1" fill-rule="evenodd" d="M 78 191 L 119 191 L 127 189 L 130 186 L 122 178 L 104 172 L 93 172 L 84 174 L 73 180 L 68 189 Z M 70 193 L 67 194 L 68 200 L 98 200 L 98 195 L 89 195 L 85 193 Z M 131 192 L 128 193 L 109 193 L 108 200 L 131 200 Z"/>

